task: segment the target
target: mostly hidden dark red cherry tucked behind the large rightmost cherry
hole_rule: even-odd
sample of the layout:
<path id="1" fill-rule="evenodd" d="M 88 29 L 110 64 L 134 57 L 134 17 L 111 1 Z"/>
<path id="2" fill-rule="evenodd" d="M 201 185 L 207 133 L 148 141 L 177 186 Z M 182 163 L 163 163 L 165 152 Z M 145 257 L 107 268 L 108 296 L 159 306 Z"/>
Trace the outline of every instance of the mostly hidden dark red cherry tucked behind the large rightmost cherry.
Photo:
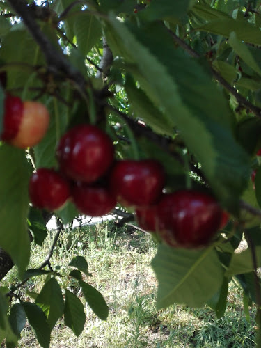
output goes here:
<path id="1" fill-rule="evenodd" d="M 157 205 L 148 208 L 136 209 L 136 219 L 139 226 L 145 231 L 157 232 L 159 230 L 159 218 Z"/>

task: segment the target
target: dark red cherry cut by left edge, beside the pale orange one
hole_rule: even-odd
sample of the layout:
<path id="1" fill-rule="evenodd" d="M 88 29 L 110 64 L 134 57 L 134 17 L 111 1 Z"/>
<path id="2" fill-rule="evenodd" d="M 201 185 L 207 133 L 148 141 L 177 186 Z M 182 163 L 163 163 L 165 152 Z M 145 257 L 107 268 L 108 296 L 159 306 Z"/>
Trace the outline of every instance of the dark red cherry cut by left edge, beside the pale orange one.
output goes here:
<path id="1" fill-rule="evenodd" d="M 1 140 L 11 141 L 15 139 L 22 121 L 24 105 L 19 97 L 7 94 L 4 101 L 3 132 Z"/>

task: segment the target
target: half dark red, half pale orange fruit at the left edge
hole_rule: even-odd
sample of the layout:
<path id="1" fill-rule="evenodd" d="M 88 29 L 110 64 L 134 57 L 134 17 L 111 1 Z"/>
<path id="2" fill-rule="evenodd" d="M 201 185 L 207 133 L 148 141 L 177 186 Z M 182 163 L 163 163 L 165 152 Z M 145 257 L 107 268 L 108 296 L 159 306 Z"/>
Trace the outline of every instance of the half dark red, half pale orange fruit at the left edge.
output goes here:
<path id="1" fill-rule="evenodd" d="M 49 112 L 39 102 L 22 102 L 6 95 L 1 139 L 17 148 L 29 148 L 39 143 L 49 126 Z"/>

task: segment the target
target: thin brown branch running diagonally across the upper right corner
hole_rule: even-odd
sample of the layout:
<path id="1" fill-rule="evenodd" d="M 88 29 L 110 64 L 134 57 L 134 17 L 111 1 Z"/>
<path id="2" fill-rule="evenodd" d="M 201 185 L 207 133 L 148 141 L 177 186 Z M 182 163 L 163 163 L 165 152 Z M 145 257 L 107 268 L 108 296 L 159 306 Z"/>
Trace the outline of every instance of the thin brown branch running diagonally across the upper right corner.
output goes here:
<path id="1" fill-rule="evenodd" d="M 186 52 L 188 52 L 194 58 L 200 58 L 200 54 L 198 54 L 198 52 L 194 51 L 186 42 L 184 42 L 175 33 L 173 33 L 173 31 L 171 31 L 170 29 L 167 29 L 167 30 L 168 30 L 168 33 L 171 34 L 171 37 L 177 43 L 177 45 L 182 47 Z M 258 106 L 255 106 L 251 104 L 251 102 L 248 102 L 248 100 L 246 100 L 246 98 L 243 97 L 243 95 L 237 92 L 237 89 L 235 87 L 230 86 L 230 84 L 228 84 L 228 82 L 225 79 L 223 79 L 223 77 L 221 76 L 221 74 L 219 74 L 219 72 L 217 72 L 213 68 L 211 68 L 211 71 L 214 78 L 217 81 L 219 81 L 219 83 L 236 98 L 239 105 L 244 105 L 246 109 L 251 111 L 255 116 L 261 117 L 261 109 Z"/>

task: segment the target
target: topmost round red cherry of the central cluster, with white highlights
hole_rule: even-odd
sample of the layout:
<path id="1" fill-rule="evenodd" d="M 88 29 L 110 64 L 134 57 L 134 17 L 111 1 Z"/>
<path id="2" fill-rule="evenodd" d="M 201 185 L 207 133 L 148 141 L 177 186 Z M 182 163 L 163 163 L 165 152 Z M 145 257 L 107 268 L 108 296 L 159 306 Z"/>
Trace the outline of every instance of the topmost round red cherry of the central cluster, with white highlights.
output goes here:
<path id="1" fill-rule="evenodd" d="M 113 143 L 101 129 L 78 125 L 63 135 L 56 156 L 65 175 L 75 181 L 95 182 L 113 162 Z"/>

